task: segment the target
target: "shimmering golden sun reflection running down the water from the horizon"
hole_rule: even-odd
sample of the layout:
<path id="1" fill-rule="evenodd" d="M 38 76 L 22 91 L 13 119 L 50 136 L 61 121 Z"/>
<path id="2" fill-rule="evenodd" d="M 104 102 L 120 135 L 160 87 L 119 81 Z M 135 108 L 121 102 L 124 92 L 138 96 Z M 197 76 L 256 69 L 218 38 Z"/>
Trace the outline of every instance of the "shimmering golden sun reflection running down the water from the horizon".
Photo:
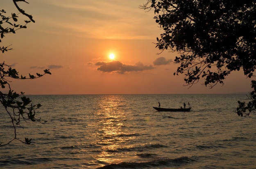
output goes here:
<path id="1" fill-rule="evenodd" d="M 126 120 L 129 118 L 129 112 L 125 112 L 125 104 L 121 95 L 102 96 L 102 102 L 99 103 L 100 109 L 97 111 L 97 126 L 95 131 L 96 144 L 100 145 L 102 150 L 96 160 L 102 163 L 119 163 L 123 162 L 127 152 L 122 149 L 132 148 L 129 145 L 130 140 L 135 139 L 129 136 L 128 129 L 125 126 Z"/>

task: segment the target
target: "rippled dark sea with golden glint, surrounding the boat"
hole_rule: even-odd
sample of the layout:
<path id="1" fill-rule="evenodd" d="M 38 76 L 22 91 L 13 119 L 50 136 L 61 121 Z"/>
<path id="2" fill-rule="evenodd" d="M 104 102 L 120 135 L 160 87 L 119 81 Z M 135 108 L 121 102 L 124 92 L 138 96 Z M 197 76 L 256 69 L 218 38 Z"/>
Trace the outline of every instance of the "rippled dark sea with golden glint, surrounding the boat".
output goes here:
<path id="1" fill-rule="evenodd" d="M 244 94 L 32 95 L 37 116 L 0 147 L 1 169 L 256 169 L 256 114 Z M 160 112 L 190 102 L 190 112 Z M 188 106 L 188 104 L 187 104 Z M 0 142 L 14 137 L 0 109 Z"/>

